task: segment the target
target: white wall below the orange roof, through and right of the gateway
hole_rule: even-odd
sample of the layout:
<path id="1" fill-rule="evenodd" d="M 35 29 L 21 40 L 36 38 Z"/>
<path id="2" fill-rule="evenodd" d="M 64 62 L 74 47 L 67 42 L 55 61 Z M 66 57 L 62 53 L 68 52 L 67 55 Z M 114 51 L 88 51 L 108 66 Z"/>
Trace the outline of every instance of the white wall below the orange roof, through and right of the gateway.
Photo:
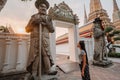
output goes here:
<path id="1" fill-rule="evenodd" d="M 85 46 L 86 46 L 86 51 L 88 55 L 88 59 L 92 60 L 93 59 L 93 54 L 94 54 L 94 39 L 93 38 L 79 38 L 80 41 L 85 41 Z M 69 44 L 64 43 L 64 44 L 59 44 L 56 45 L 56 51 L 57 54 L 61 53 L 63 55 L 69 55 Z"/>

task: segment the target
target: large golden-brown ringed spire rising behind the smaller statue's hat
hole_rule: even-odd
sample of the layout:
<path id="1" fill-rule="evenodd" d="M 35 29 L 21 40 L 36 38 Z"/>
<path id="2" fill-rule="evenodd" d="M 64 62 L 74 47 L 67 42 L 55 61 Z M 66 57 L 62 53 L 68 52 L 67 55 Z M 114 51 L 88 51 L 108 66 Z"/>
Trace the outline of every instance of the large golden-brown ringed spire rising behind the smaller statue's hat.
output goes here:
<path id="1" fill-rule="evenodd" d="M 94 21 L 96 17 L 100 17 L 104 28 L 112 25 L 106 10 L 102 8 L 100 0 L 90 0 L 88 21 Z"/>

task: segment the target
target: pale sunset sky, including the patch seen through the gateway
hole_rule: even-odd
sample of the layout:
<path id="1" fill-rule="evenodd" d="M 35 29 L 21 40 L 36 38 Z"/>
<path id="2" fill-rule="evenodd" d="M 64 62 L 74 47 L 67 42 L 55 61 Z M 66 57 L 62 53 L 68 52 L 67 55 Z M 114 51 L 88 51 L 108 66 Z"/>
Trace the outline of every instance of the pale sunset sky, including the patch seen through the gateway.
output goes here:
<path id="1" fill-rule="evenodd" d="M 83 25 L 84 21 L 84 4 L 86 7 L 87 15 L 90 10 L 90 0 L 48 0 L 50 6 L 65 2 L 73 10 L 74 14 L 80 19 L 79 27 Z M 107 10 L 107 13 L 112 20 L 113 13 L 113 0 L 100 0 L 103 9 Z M 118 7 L 120 8 L 120 0 L 116 0 Z M 22 2 L 21 0 L 8 0 L 3 10 L 0 12 L 0 25 L 12 26 L 16 33 L 25 33 L 25 26 L 27 25 L 30 17 L 37 13 L 37 9 L 34 6 L 35 0 Z M 60 36 L 67 33 L 67 29 L 56 28 L 56 36 Z"/>

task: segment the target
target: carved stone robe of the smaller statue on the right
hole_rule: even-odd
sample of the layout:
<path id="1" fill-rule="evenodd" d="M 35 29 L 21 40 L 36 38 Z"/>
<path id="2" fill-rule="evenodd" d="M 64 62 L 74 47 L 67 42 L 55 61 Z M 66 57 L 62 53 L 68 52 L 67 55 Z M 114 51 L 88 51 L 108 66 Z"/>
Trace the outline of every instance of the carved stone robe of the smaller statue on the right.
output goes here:
<path id="1" fill-rule="evenodd" d="M 100 28 L 95 26 L 93 29 L 93 33 L 94 33 L 94 56 L 93 58 L 95 61 L 102 61 L 107 51 L 104 31 L 102 31 Z"/>

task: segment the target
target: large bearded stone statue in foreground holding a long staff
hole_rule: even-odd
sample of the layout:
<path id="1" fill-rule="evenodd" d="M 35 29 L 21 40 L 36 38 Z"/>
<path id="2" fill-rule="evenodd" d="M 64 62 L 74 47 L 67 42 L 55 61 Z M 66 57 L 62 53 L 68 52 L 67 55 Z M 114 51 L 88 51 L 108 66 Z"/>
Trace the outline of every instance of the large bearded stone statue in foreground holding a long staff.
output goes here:
<path id="1" fill-rule="evenodd" d="M 49 33 L 54 32 L 54 27 L 47 15 L 49 3 L 46 0 L 36 0 L 35 6 L 38 13 L 31 17 L 26 26 L 26 32 L 30 32 L 31 39 L 27 71 L 32 79 L 29 80 L 39 80 L 39 75 L 57 74 L 56 70 L 51 69 L 54 63 L 50 51 Z"/>

